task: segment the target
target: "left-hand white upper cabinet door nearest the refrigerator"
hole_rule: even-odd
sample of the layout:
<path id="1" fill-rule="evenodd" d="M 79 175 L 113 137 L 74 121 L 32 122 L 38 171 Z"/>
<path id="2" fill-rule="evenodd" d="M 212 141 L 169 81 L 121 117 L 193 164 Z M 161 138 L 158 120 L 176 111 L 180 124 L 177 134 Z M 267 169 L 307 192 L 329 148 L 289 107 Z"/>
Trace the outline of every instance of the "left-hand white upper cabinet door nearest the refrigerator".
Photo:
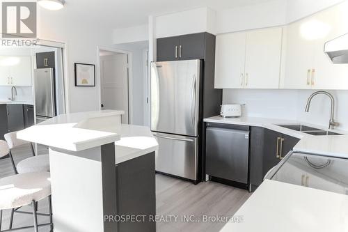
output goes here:
<path id="1" fill-rule="evenodd" d="M 215 88 L 244 88 L 246 33 L 216 36 Z"/>

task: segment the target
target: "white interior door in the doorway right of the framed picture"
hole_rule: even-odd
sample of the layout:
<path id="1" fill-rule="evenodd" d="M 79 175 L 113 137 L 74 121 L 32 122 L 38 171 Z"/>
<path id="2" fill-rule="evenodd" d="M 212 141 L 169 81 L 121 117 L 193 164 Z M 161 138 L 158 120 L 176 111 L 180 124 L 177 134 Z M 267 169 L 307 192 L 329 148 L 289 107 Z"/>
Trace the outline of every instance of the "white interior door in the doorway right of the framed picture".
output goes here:
<path id="1" fill-rule="evenodd" d="M 123 110 L 122 123 L 129 123 L 128 55 L 100 56 L 102 109 Z"/>

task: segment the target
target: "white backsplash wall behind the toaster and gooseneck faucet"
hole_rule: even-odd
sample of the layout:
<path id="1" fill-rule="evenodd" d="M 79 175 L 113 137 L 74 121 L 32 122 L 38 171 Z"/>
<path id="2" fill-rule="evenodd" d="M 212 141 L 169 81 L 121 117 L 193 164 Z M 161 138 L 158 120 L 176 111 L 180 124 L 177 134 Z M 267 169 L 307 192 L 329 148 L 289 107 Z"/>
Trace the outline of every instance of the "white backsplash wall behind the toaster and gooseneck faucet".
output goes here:
<path id="1" fill-rule="evenodd" d="M 330 118 L 330 100 L 324 95 L 313 98 L 310 111 L 304 111 L 312 90 L 255 90 L 224 89 L 223 103 L 245 104 L 244 116 L 283 118 L 299 120 L 315 125 L 328 126 Z M 335 98 L 335 120 L 338 128 L 348 130 L 348 91 L 329 91 Z"/>

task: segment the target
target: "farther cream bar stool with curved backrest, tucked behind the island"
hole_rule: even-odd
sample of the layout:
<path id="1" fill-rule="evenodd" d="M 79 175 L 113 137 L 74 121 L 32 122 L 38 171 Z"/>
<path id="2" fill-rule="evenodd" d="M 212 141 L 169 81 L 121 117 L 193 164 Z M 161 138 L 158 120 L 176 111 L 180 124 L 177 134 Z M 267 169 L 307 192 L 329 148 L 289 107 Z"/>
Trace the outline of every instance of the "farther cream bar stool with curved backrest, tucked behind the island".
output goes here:
<path id="1" fill-rule="evenodd" d="M 10 148 L 10 160 L 15 170 L 15 173 L 29 173 L 36 171 L 49 171 L 49 155 L 35 155 L 35 151 L 33 148 L 33 144 L 28 141 L 24 141 L 21 139 L 17 139 L 17 132 L 10 132 L 4 135 L 8 147 Z M 31 152 L 33 157 L 26 158 L 15 165 L 15 161 L 13 160 L 13 154 L 11 153 L 11 149 L 16 148 L 17 146 L 21 146 L 24 144 L 31 144 Z"/>

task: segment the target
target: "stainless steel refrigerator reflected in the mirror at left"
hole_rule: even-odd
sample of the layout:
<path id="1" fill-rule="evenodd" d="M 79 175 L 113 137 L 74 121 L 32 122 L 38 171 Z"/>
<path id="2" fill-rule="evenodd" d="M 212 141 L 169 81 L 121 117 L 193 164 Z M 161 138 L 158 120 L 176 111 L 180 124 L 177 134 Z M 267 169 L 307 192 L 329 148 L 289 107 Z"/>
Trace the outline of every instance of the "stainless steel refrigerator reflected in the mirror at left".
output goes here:
<path id="1" fill-rule="evenodd" d="M 36 123 L 56 116 L 53 68 L 34 70 L 34 90 Z"/>

